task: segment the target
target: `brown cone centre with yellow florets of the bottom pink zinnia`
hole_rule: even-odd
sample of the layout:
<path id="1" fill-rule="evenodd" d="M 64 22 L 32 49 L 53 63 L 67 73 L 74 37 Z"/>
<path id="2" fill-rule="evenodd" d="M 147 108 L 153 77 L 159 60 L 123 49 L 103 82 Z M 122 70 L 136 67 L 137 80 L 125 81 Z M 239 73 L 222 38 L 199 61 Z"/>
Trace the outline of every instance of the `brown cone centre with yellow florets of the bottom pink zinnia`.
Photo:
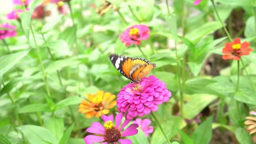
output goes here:
<path id="1" fill-rule="evenodd" d="M 120 130 L 118 130 L 112 121 L 106 121 L 103 125 L 105 127 L 104 140 L 113 143 L 122 137 Z"/>

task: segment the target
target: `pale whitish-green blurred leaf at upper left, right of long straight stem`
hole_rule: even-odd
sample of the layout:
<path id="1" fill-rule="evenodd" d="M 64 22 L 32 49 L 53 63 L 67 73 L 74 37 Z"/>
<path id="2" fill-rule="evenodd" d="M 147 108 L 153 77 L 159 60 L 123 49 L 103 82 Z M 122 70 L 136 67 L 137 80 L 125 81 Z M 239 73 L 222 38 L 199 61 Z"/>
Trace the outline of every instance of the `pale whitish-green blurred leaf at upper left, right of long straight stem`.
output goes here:
<path id="1" fill-rule="evenodd" d="M 49 42 L 48 44 L 51 51 L 57 55 L 57 57 L 65 57 L 65 56 L 71 56 L 72 53 L 69 50 L 69 46 L 66 41 L 64 40 L 56 40 Z"/>

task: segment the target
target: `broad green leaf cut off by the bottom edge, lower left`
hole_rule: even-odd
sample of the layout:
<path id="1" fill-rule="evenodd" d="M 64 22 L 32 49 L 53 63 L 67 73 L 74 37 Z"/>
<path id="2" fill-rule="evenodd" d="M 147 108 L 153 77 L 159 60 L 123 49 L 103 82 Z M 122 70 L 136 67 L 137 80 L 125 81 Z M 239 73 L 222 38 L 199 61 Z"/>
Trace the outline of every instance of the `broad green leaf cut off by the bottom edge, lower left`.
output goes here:
<path id="1" fill-rule="evenodd" d="M 41 126 L 23 125 L 18 127 L 31 144 L 45 144 L 49 141 L 52 144 L 58 144 L 59 141 L 54 137 L 53 133 Z"/>

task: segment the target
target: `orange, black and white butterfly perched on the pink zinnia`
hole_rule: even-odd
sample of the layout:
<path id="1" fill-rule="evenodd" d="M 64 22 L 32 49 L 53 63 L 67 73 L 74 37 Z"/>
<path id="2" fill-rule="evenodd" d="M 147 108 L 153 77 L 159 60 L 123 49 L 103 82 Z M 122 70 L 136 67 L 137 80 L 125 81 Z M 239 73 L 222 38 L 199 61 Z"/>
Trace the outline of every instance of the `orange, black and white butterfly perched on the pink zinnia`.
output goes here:
<path id="1" fill-rule="evenodd" d="M 156 67 L 155 63 L 150 63 L 148 60 L 142 58 L 124 57 L 118 54 L 111 54 L 109 56 L 114 67 L 131 82 L 138 82 L 141 78 L 148 75 L 148 73 Z"/>

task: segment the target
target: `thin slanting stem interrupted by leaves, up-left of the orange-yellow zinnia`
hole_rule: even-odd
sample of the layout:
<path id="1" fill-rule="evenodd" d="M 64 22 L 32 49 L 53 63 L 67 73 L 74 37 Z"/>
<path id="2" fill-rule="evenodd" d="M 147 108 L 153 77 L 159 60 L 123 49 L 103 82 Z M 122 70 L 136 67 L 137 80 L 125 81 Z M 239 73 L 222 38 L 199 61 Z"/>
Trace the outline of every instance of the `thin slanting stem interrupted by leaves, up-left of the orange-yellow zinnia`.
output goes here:
<path id="1" fill-rule="evenodd" d="M 55 58 L 53 57 L 53 54 L 51 53 L 51 50 L 50 50 L 50 48 L 49 48 L 48 42 L 46 41 L 46 39 L 45 39 L 45 37 L 44 37 L 44 34 L 43 34 L 42 32 L 41 32 L 41 35 L 42 35 L 42 38 L 43 38 L 43 40 L 44 40 L 44 42 L 45 42 L 45 44 L 46 44 L 46 48 L 47 48 L 47 50 L 48 50 L 48 53 L 50 54 L 51 60 L 55 60 Z M 62 80 L 61 80 L 61 77 L 60 77 L 60 71 L 57 70 L 56 72 L 57 72 L 57 76 L 58 76 L 58 80 L 59 80 L 60 87 L 63 88 L 64 93 L 65 93 L 65 96 L 66 96 L 66 98 L 68 98 L 68 96 L 67 96 L 67 90 L 66 90 L 66 88 L 63 86 L 63 83 L 62 83 Z M 70 111 L 70 113 L 71 113 L 72 120 L 75 121 L 75 115 L 74 115 L 74 113 L 73 113 L 73 111 L 72 111 L 71 106 L 69 105 L 68 108 L 69 108 L 69 111 Z"/>

